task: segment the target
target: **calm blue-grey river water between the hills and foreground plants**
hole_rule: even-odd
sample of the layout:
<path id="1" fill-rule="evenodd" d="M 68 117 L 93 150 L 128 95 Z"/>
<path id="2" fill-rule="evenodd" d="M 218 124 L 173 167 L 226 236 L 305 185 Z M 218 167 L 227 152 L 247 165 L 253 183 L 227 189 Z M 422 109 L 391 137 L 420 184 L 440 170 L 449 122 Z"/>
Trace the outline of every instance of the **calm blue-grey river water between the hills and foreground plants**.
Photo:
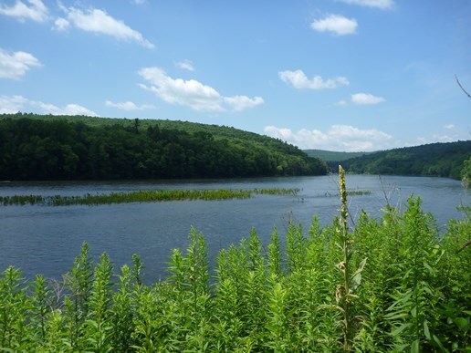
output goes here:
<path id="1" fill-rule="evenodd" d="M 322 225 L 331 223 L 340 208 L 337 176 L 257 178 L 201 182 L 7 182 L 0 195 L 76 195 L 97 192 L 130 192 L 157 189 L 261 189 L 299 188 L 297 196 L 258 195 L 246 200 L 121 203 L 99 206 L 0 206 L 0 270 L 19 267 L 26 278 L 37 273 L 60 279 L 73 265 L 80 246 L 87 241 L 97 259 L 107 252 L 116 267 L 131 265 L 139 254 L 144 279 L 151 283 L 166 275 L 173 248 L 184 250 L 192 226 L 204 234 L 210 260 L 229 244 L 238 244 L 252 228 L 264 244 L 274 227 L 284 234 L 289 220 L 307 230 L 313 215 Z M 355 218 L 365 210 L 380 217 L 386 200 L 403 207 L 409 195 L 420 195 L 425 212 L 434 213 L 445 228 L 455 210 L 469 205 L 471 197 L 460 182 L 443 178 L 349 175 L 349 190 L 371 191 L 351 196 Z"/>

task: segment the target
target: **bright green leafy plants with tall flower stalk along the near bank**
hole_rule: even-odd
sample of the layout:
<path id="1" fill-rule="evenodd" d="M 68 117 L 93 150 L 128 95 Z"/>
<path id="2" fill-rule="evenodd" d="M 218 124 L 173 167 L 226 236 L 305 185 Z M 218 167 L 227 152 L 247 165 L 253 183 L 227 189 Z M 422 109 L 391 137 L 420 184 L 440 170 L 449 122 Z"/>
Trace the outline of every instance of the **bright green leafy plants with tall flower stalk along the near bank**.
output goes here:
<path id="1" fill-rule="evenodd" d="M 165 280 L 141 282 L 134 255 L 114 275 L 84 243 L 61 282 L 0 277 L 5 351 L 434 352 L 471 351 L 471 220 L 438 234 L 420 199 L 387 204 L 381 219 L 349 221 L 340 170 L 340 215 L 306 232 L 289 223 L 267 246 L 252 230 L 208 268 L 191 230 Z M 464 210 L 469 211 L 466 207 Z M 469 214 L 468 214 L 469 216 Z"/>

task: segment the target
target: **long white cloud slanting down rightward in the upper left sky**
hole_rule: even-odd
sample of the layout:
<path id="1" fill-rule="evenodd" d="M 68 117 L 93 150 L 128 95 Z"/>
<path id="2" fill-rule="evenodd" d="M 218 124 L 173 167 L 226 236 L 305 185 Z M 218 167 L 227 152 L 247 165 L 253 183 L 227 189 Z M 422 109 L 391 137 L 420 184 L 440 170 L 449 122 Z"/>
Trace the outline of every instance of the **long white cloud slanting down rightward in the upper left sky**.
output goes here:
<path id="1" fill-rule="evenodd" d="M 155 47 L 149 40 L 145 39 L 141 33 L 132 29 L 124 22 L 113 18 L 105 11 L 96 8 L 87 11 L 81 11 L 75 7 L 62 9 L 67 13 L 67 20 L 70 24 L 87 32 L 99 33 L 102 35 L 113 36 L 119 40 L 128 40 L 139 43 L 142 47 Z M 64 21 L 56 23 L 58 29 L 63 28 Z"/>

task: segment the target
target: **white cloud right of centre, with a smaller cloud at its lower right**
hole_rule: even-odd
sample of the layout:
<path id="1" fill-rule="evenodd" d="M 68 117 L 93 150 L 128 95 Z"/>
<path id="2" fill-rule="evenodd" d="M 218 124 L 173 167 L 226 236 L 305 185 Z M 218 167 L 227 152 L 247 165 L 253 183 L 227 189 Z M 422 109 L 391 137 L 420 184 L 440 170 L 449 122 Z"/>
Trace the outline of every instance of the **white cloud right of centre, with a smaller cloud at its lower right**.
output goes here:
<path id="1" fill-rule="evenodd" d="M 279 78 L 288 85 L 298 89 L 324 89 L 336 88 L 338 85 L 348 86 L 349 80 L 344 77 L 322 79 L 320 76 L 314 76 L 309 79 L 302 70 L 296 71 L 279 71 Z"/>

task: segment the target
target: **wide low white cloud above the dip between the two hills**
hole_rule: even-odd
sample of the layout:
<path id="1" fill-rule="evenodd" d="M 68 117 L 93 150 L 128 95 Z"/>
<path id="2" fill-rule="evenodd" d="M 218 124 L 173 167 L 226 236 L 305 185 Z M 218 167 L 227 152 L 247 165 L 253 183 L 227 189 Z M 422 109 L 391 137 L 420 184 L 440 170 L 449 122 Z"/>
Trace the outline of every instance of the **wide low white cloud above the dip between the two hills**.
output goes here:
<path id="1" fill-rule="evenodd" d="M 387 141 L 393 137 L 376 129 L 361 130 L 350 125 L 332 125 L 330 130 L 290 129 L 267 126 L 265 133 L 300 149 L 320 149 L 328 151 L 379 151 L 389 148 Z"/>

